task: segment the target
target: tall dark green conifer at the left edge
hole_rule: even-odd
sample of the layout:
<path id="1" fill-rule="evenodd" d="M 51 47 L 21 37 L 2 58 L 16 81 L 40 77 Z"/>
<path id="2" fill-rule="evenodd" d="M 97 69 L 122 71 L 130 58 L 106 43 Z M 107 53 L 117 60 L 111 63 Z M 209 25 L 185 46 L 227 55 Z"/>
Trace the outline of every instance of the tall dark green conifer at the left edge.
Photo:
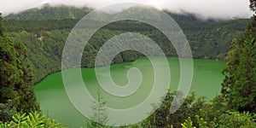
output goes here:
<path id="1" fill-rule="evenodd" d="M 11 106 L 9 110 L 16 108 L 25 113 L 38 110 L 32 89 L 32 67 L 27 59 L 26 49 L 22 44 L 14 43 L 6 37 L 2 24 L 0 26 L 0 105 Z"/>

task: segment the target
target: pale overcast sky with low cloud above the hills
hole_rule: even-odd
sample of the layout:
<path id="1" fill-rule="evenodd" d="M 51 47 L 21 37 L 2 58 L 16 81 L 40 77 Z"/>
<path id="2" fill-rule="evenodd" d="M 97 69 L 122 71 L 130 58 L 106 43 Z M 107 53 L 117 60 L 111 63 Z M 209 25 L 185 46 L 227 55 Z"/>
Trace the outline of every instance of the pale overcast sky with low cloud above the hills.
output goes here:
<path id="1" fill-rule="evenodd" d="M 0 0 L 0 12 L 3 15 L 17 13 L 25 9 L 40 7 L 44 3 L 65 4 L 77 7 L 90 6 L 101 8 L 113 3 L 131 2 L 152 5 L 157 9 L 168 9 L 201 15 L 204 18 L 247 18 L 252 15 L 248 8 L 249 0 Z"/>

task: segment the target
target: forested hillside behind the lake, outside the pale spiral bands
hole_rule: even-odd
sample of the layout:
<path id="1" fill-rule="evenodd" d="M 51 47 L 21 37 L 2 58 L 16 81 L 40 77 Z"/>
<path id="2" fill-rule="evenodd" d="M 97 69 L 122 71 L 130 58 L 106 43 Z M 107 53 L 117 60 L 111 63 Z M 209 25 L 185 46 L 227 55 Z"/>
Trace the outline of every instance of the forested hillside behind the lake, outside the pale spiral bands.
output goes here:
<path id="1" fill-rule="evenodd" d="M 22 42 L 32 61 L 35 82 L 44 79 L 49 73 L 61 69 L 61 51 L 73 26 L 79 18 L 88 14 L 91 9 L 73 7 L 49 7 L 30 9 L 16 15 L 4 17 L 3 26 L 9 38 Z M 53 13 L 54 12 L 54 13 Z M 239 37 L 249 20 L 200 20 L 195 15 L 177 15 L 167 12 L 177 20 L 189 40 L 194 58 L 207 58 L 223 61 L 230 49 L 233 38 Z M 65 14 L 65 15 L 62 15 Z M 68 14 L 68 15 L 67 15 Z M 38 17 L 36 17 L 38 16 Z M 140 32 L 152 38 L 168 56 L 176 56 L 172 44 L 152 26 L 141 22 L 123 20 L 104 26 L 90 39 L 86 47 L 83 67 L 93 67 L 97 50 L 108 39 L 123 32 Z M 116 56 L 113 63 L 134 61 L 141 54 L 126 51 Z"/>

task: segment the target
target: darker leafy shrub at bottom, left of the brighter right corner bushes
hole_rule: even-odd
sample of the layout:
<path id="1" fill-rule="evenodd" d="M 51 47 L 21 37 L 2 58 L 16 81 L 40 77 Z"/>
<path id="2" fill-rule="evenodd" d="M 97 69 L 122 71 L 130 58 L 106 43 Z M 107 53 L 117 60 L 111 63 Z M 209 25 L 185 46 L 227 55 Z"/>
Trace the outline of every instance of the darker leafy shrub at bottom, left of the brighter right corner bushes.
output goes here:
<path id="1" fill-rule="evenodd" d="M 177 110 L 176 113 L 170 113 L 170 107 L 172 105 L 172 100 L 177 94 L 177 97 L 182 100 L 182 92 L 171 92 L 168 91 L 164 101 L 160 105 L 160 108 L 156 109 L 147 119 L 143 120 L 143 127 L 181 127 L 181 124 L 185 122 L 189 117 L 193 117 L 195 120 L 195 114 L 200 113 L 200 109 L 204 108 L 203 98 L 198 98 L 195 100 L 195 93 L 187 96 L 182 104 L 182 106 Z M 153 106 L 155 107 L 155 105 Z M 188 123 L 189 120 L 187 120 Z M 188 126 L 188 125 L 184 125 Z"/>

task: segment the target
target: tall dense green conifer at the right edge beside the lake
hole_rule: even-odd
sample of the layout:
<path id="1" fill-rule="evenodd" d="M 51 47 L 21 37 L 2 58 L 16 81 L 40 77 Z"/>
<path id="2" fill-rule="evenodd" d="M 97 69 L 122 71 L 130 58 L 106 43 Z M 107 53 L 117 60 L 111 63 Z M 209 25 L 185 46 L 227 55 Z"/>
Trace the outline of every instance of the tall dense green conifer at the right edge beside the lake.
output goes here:
<path id="1" fill-rule="evenodd" d="M 255 0 L 250 8 L 255 11 Z M 243 36 L 233 40 L 224 69 L 222 93 L 230 108 L 256 112 L 256 16 L 253 15 Z"/>

